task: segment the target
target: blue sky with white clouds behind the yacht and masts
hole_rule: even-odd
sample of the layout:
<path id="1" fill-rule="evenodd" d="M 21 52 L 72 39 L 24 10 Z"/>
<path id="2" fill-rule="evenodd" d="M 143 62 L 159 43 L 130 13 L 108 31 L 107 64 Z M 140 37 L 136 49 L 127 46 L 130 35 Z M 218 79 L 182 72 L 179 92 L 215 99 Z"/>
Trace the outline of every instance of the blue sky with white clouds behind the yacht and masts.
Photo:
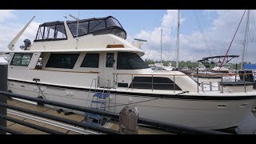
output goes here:
<path id="1" fill-rule="evenodd" d="M 195 62 L 204 57 L 225 55 L 245 10 L 179 10 L 179 61 Z M 36 16 L 16 44 L 15 50 L 23 45 L 23 40 L 34 41 L 39 24 L 43 22 L 74 20 L 72 14 L 80 19 L 114 16 L 127 33 L 127 40 L 134 38 L 147 40 L 141 49 L 143 59 L 160 60 L 161 30 L 162 59 L 175 60 L 177 42 L 178 10 L 0 10 L 0 51 L 8 50 L 7 45 L 19 30 Z M 255 10 L 250 10 L 249 33 L 245 61 L 256 63 Z M 255 18 L 254 18 L 255 17 Z M 231 62 L 241 62 L 243 39 L 247 15 L 242 18 L 237 34 L 228 54 L 240 55 Z"/>

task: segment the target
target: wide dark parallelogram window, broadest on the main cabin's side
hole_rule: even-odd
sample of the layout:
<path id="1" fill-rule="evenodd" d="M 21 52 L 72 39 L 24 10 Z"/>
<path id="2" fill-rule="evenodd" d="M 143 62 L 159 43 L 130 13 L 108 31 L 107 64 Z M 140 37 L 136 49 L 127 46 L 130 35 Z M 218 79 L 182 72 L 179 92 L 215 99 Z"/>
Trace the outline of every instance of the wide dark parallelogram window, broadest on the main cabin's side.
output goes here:
<path id="1" fill-rule="evenodd" d="M 79 54 L 50 54 L 46 67 L 73 69 Z"/>

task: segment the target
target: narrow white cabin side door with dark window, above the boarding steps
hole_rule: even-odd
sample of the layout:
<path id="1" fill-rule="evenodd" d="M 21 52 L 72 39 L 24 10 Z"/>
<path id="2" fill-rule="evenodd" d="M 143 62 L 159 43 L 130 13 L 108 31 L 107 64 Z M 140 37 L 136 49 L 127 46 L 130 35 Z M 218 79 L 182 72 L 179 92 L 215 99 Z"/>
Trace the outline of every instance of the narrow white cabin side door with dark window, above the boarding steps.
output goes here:
<path id="1" fill-rule="evenodd" d="M 106 87 L 114 87 L 114 53 L 106 53 L 105 54 L 105 64 L 103 68 L 103 82 L 102 85 Z"/>

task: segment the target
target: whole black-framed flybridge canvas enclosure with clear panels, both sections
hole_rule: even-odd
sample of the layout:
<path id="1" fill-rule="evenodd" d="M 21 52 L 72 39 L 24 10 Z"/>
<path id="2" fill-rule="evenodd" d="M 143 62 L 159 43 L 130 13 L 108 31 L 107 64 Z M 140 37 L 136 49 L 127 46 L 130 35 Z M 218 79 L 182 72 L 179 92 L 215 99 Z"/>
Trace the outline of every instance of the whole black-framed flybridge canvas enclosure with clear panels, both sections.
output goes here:
<path id="1" fill-rule="evenodd" d="M 126 39 L 126 30 L 124 30 L 118 20 L 112 16 L 105 18 L 80 19 L 78 21 L 67 21 L 73 37 L 87 34 L 114 34 L 120 38 Z M 78 31 L 77 31 L 78 27 Z M 34 42 L 65 40 L 66 29 L 64 22 L 45 22 L 38 28 L 38 34 Z"/>

